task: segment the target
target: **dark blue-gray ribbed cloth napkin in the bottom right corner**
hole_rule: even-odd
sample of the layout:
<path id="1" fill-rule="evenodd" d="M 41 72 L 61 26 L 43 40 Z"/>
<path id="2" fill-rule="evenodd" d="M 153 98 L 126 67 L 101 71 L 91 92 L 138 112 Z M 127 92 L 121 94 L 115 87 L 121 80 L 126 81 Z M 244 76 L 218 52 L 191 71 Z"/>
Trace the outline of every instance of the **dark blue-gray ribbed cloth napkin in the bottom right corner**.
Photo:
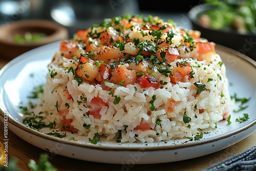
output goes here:
<path id="1" fill-rule="evenodd" d="M 250 170 L 256 171 L 256 146 L 232 156 L 224 161 L 216 163 L 202 171 L 233 171 Z"/>

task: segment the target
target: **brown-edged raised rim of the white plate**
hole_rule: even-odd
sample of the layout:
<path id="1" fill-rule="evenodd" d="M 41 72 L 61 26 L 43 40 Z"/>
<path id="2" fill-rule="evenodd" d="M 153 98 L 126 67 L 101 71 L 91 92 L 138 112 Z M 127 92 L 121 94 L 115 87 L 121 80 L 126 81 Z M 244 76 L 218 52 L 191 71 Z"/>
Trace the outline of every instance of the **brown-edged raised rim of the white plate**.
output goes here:
<path id="1" fill-rule="evenodd" d="M 15 63 L 18 63 L 21 60 L 26 60 L 26 58 L 28 56 L 31 56 L 31 55 L 43 52 L 46 49 L 53 49 L 53 50 L 56 49 L 57 50 L 58 46 L 59 46 L 59 41 L 58 42 L 54 42 L 54 43 L 49 44 L 49 45 L 46 45 L 46 46 L 42 46 L 42 47 L 36 48 L 36 49 L 31 50 L 31 51 L 29 51 L 29 52 L 27 52 L 27 53 L 25 53 L 23 55 L 20 55 L 20 56 L 16 57 L 15 59 L 13 59 L 9 63 L 7 63 L 7 65 L 4 66 L 2 68 L 2 70 L 0 70 L 0 80 L 1 80 L 1 76 L 5 73 L 5 70 L 7 70 L 9 67 L 14 65 Z M 239 53 L 237 51 L 231 50 L 229 48 L 226 48 L 226 47 L 223 47 L 223 46 L 220 46 L 220 45 L 217 45 L 216 49 L 217 49 L 217 51 L 225 51 L 226 53 L 235 55 L 237 58 L 241 59 L 242 62 L 245 62 L 246 65 L 252 66 L 253 69 L 256 71 L 256 62 L 254 60 L 250 59 L 249 57 L 247 57 L 247 56 L 245 56 L 245 55 L 243 55 L 243 54 L 241 54 L 241 53 Z M 10 127 L 12 127 L 11 131 L 13 131 L 13 128 L 15 127 L 17 130 L 25 131 L 25 132 L 33 135 L 33 136 L 37 136 L 37 137 L 43 138 L 45 140 L 50 140 L 50 141 L 53 141 L 53 142 L 59 142 L 59 143 L 63 143 L 63 144 L 68 144 L 68 145 L 76 146 L 76 147 L 83 147 L 85 149 L 86 148 L 87 149 L 88 148 L 90 148 L 90 149 L 98 149 L 100 151 L 122 151 L 122 152 L 129 151 L 129 152 L 132 152 L 132 151 L 138 151 L 138 150 L 141 150 L 141 149 L 143 149 L 143 151 L 147 151 L 147 152 L 150 152 L 150 151 L 156 151 L 157 152 L 157 151 L 163 151 L 163 150 L 172 151 L 172 150 L 179 150 L 179 149 L 184 149 L 184 148 L 202 146 L 204 144 L 210 144 L 210 143 L 214 143 L 214 142 L 217 142 L 217 141 L 223 141 L 226 138 L 235 137 L 235 136 L 237 136 L 237 135 L 239 135 L 241 133 L 244 133 L 244 135 L 242 137 L 240 137 L 237 140 L 234 140 L 233 142 L 230 142 L 228 145 L 225 146 L 225 147 L 227 147 L 227 146 L 232 145 L 233 143 L 237 143 L 237 142 L 241 141 L 242 139 L 248 137 L 250 134 L 252 134 L 256 130 L 256 116 L 254 116 L 249 122 L 247 122 L 244 125 L 241 125 L 241 127 L 239 127 L 238 130 L 233 130 L 231 132 L 227 132 L 227 133 L 221 134 L 221 135 L 216 136 L 216 137 L 202 139 L 200 141 L 194 141 L 192 143 L 183 143 L 183 144 L 175 144 L 175 145 L 168 144 L 168 143 L 164 144 L 164 145 L 161 145 L 161 143 L 155 143 L 156 145 L 149 145 L 149 146 L 145 146 L 144 143 L 142 143 L 142 145 L 141 144 L 136 144 L 136 145 L 131 145 L 131 146 L 129 146 L 129 145 L 116 145 L 116 146 L 108 146 L 108 145 L 106 145 L 106 146 L 104 146 L 104 145 L 94 145 L 94 144 L 91 144 L 91 143 L 81 144 L 81 143 L 76 143 L 74 141 L 67 141 L 67 140 L 64 140 L 64 139 L 59 139 L 59 138 L 56 138 L 56 137 L 45 135 L 43 133 L 40 133 L 40 132 L 37 132 L 35 130 L 29 129 L 24 124 L 22 124 L 22 123 L 16 121 L 15 119 L 13 119 L 11 117 L 12 114 L 7 112 L 7 109 L 6 109 L 5 105 L 3 104 L 3 89 L 1 89 L 1 88 L 0 88 L 0 107 L 1 107 L 0 108 L 0 116 L 1 116 L 0 118 L 3 121 L 4 120 L 4 115 L 7 113 L 7 115 L 9 116 L 8 117 L 8 119 L 9 119 L 8 122 L 12 125 L 12 126 L 10 126 Z M 19 136 L 20 138 L 24 139 L 23 135 L 18 135 L 17 134 L 17 131 L 14 131 L 14 133 L 17 136 Z M 26 141 L 28 141 L 28 140 L 26 140 Z M 219 149 L 215 149 L 215 151 L 212 151 L 210 153 L 216 152 L 216 151 L 218 151 L 218 150 L 220 150 L 222 148 L 223 147 L 220 147 Z M 206 153 L 204 155 L 206 155 Z"/>

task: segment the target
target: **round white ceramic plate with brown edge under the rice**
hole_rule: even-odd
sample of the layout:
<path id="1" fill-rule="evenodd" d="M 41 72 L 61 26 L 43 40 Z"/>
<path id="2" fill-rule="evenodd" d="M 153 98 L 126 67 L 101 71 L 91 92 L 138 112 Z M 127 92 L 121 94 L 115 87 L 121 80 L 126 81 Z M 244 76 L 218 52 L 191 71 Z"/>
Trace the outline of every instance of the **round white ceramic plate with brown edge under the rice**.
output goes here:
<path id="1" fill-rule="evenodd" d="M 28 96 L 34 87 L 46 81 L 47 65 L 58 51 L 59 42 L 29 51 L 10 61 L 0 71 L 0 113 L 1 120 L 8 117 L 8 129 L 27 142 L 45 149 L 49 154 L 58 154 L 71 158 L 115 164 L 152 164 L 186 160 L 220 151 L 248 137 L 256 130 L 256 62 L 250 58 L 217 45 L 217 52 L 227 67 L 227 77 L 230 95 L 237 93 L 238 97 L 251 98 L 248 108 L 239 113 L 233 113 L 231 124 L 221 122 L 218 128 L 210 134 L 204 134 L 203 139 L 188 141 L 188 139 L 159 143 L 124 143 L 105 142 L 101 140 L 96 145 L 84 137 L 67 133 L 65 138 L 56 138 L 29 129 L 22 123 L 23 114 L 20 104 L 28 103 Z M 33 76 L 32 76 L 33 75 Z M 234 105 L 233 108 L 238 108 Z M 236 122 L 236 118 L 249 115 L 245 122 Z M 49 130 L 44 130 L 45 133 Z M 78 141 L 70 141 L 75 137 Z M 11 141 L 11 140 L 10 140 Z"/>

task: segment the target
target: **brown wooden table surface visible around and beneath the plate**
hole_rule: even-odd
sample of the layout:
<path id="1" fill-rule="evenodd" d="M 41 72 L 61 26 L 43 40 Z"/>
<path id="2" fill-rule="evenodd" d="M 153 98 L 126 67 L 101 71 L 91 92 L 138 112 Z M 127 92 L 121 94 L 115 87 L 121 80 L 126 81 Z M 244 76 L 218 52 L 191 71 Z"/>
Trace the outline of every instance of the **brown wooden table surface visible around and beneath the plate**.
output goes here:
<path id="1" fill-rule="evenodd" d="M 0 69 L 8 62 L 0 58 Z M 4 140 L 4 124 L 0 122 L 0 142 Z M 38 161 L 40 154 L 46 153 L 43 149 L 31 145 L 30 143 L 19 138 L 17 135 L 8 132 L 8 156 L 17 159 L 17 167 L 20 170 L 29 170 L 27 164 L 31 159 Z M 244 140 L 227 147 L 219 152 L 206 156 L 189 159 L 185 161 L 146 164 L 146 165 L 129 165 L 124 167 L 121 164 L 104 164 L 88 162 L 68 157 L 56 155 L 49 160 L 58 170 L 201 170 L 212 164 L 225 160 L 233 155 L 237 155 L 246 149 L 256 145 L 256 132 L 252 133 Z M 85 154 L 86 155 L 86 154 Z M 157 157 L 157 156 L 156 156 Z"/>

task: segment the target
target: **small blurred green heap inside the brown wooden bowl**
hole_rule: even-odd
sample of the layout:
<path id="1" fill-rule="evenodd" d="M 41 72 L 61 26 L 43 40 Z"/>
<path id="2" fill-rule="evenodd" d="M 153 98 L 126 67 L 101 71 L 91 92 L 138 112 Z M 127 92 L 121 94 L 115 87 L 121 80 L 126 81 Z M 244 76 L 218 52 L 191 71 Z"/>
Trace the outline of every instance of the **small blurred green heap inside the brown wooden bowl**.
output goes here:
<path id="1" fill-rule="evenodd" d="M 19 43 L 31 42 L 31 41 L 39 41 L 44 39 L 46 34 L 44 33 L 30 33 L 26 32 L 24 35 L 15 34 L 13 40 Z"/>

